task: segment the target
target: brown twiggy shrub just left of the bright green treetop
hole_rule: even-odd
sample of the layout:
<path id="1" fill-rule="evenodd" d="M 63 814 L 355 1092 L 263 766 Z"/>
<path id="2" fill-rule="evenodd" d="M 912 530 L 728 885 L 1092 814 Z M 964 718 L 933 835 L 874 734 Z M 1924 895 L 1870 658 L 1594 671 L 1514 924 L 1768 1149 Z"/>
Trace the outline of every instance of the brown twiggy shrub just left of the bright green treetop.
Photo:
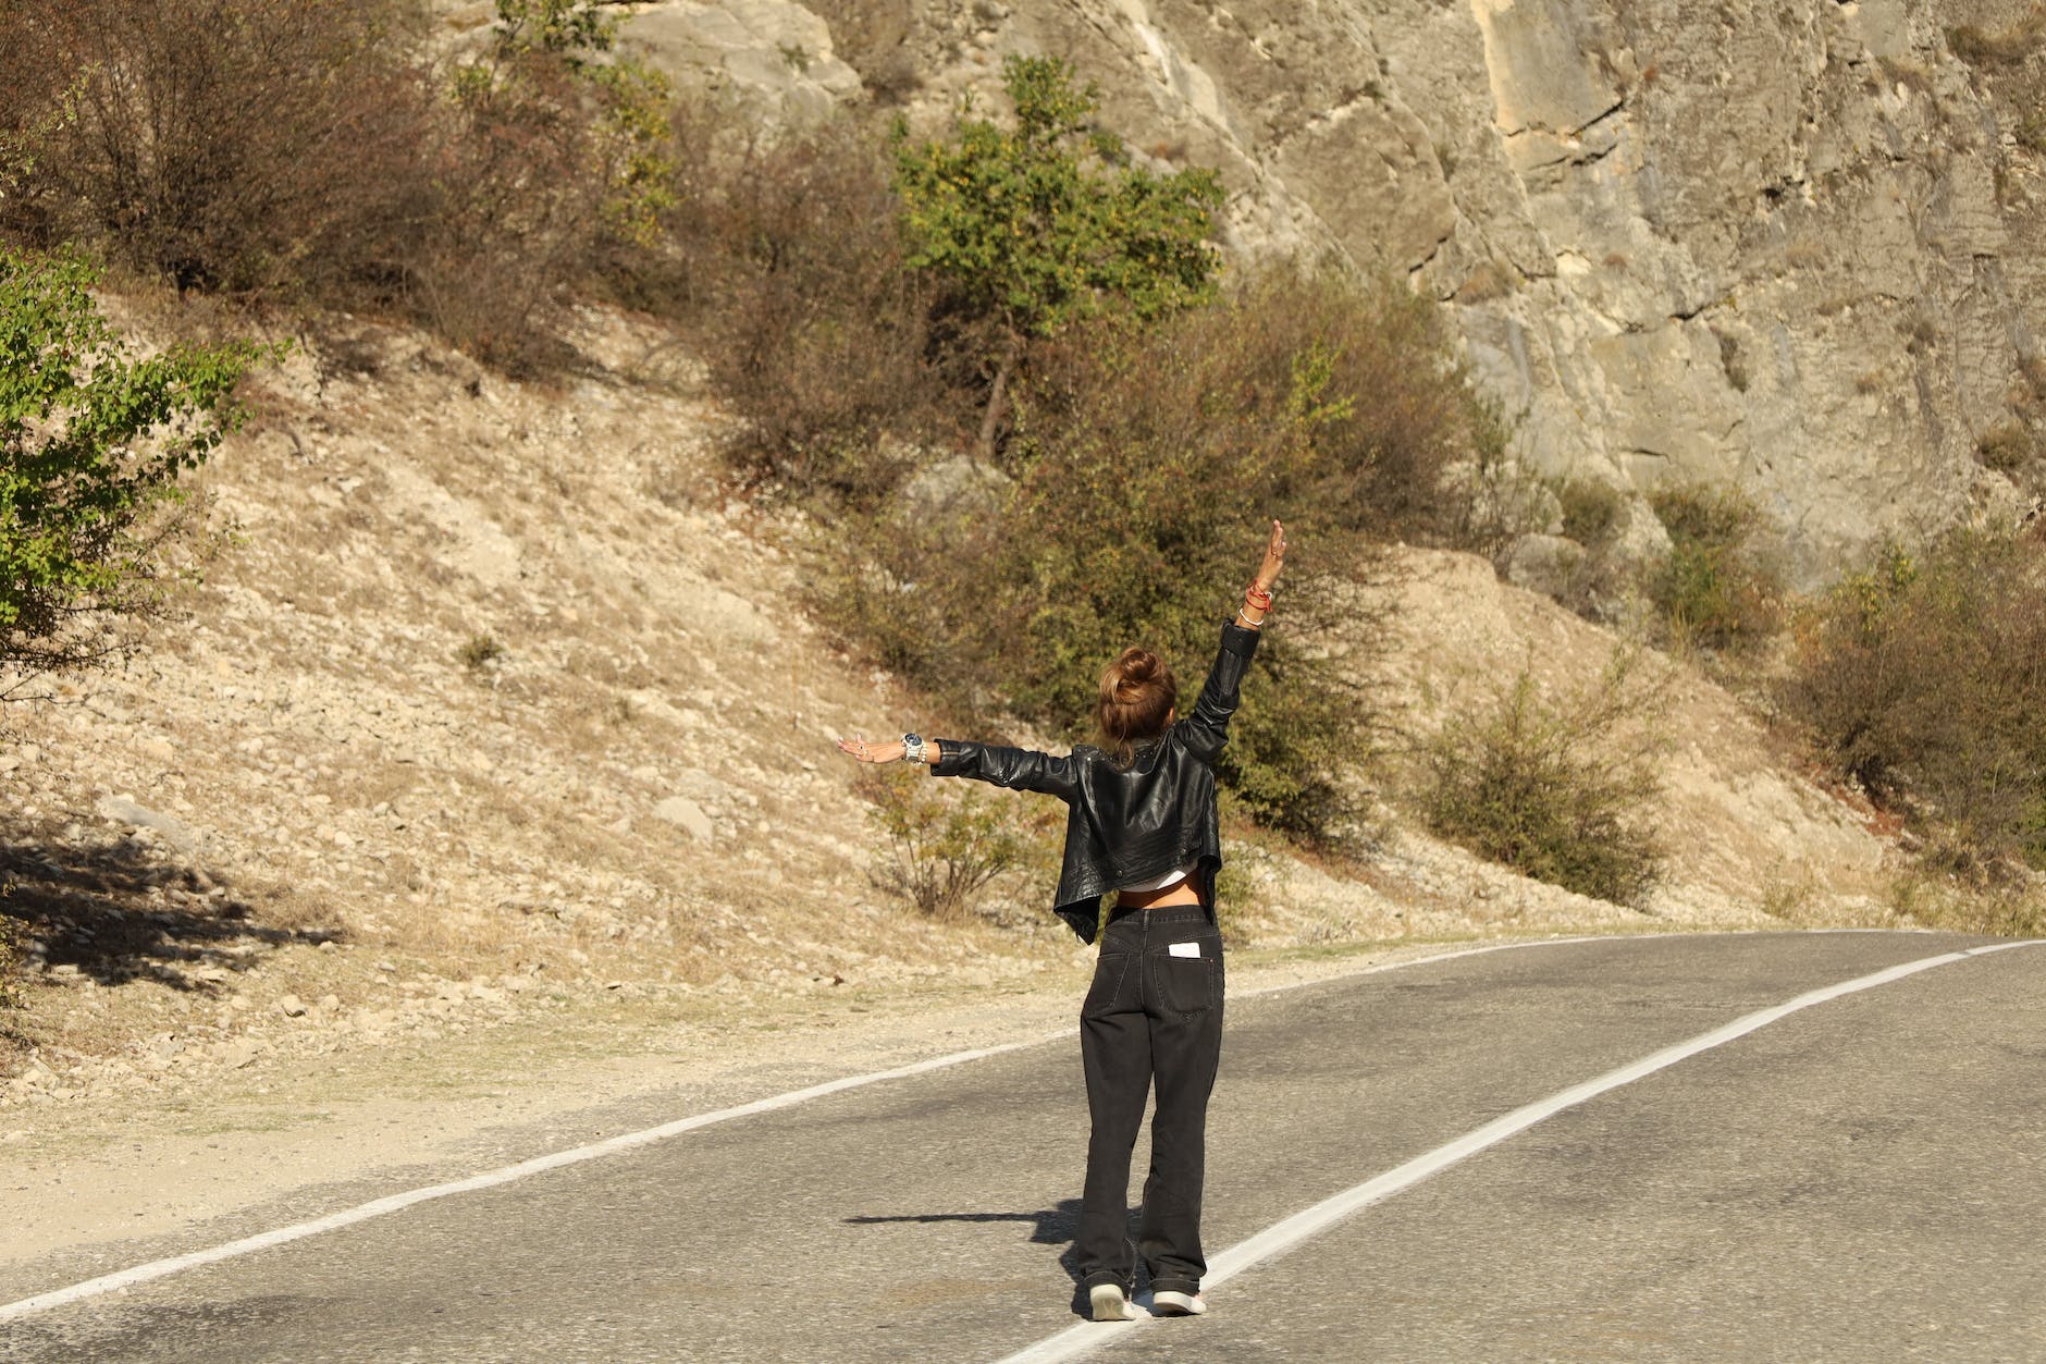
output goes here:
<path id="1" fill-rule="evenodd" d="M 902 264 L 880 141 L 849 121 L 739 147 L 685 139 L 687 289 L 663 309 L 704 340 L 712 383 L 745 420 L 741 469 L 872 506 L 919 444 L 964 420 L 933 358 L 929 297 Z"/>

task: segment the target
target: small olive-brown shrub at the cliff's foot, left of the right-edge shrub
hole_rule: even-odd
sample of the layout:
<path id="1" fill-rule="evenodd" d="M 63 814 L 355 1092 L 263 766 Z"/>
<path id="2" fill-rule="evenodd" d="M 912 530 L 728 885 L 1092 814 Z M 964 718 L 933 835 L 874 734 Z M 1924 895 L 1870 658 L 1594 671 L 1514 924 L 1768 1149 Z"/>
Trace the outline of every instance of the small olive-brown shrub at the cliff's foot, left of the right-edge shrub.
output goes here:
<path id="1" fill-rule="evenodd" d="M 1649 598 L 1670 637 L 1704 649 L 1747 649 L 1782 621 L 1782 571 L 1764 547 L 1764 516 L 1735 487 L 1665 487 L 1649 506 L 1670 530 L 1670 559 Z"/>

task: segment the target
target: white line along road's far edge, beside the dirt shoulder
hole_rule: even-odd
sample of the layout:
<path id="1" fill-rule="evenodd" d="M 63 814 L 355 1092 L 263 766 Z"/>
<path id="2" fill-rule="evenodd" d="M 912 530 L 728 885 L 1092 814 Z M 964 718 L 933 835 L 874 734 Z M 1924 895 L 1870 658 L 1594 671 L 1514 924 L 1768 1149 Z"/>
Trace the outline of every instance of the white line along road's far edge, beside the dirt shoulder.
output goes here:
<path id="1" fill-rule="evenodd" d="M 1831 932 L 1831 930 L 1819 930 Z M 1402 971 L 1406 967 L 1426 967 L 1430 963 L 1453 961 L 1459 956 L 1483 956 L 1485 952 L 1506 952 L 1514 948 L 1537 948 L 1537 946 L 1565 946 L 1582 942 L 1635 942 L 1641 938 L 1674 938 L 1682 934 L 1594 934 L 1577 938 L 1532 938 L 1522 942 L 1487 942 L 1475 948 L 1457 948 L 1451 952 L 1434 952 L 1432 956 L 1416 956 L 1414 961 L 1379 963 L 1375 967 L 1365 967 L 1361 971 L 1346 971 L 1328 977 L 1316 977 L 1311 981 L 1289 981 L 1285 985 L 1269 985 L 1264 989 L 1248 989 L 1238 997 L 1254 997 L 1279 993 L 1283 989 L 1299 989 L 1303 985 L 1320 985 L 1330 979 L 1348 979 L 1352 975 L 1377 975 L 1381 971 Z M 2013 944 L 2015 946 L 2015 944 Z M 1933 958 L 1946 961 L 1946 958 Z M 792 1108 L 796 1104 L 806 1104 L 829 1094 L 839 1094 L 843 1090 L 857 1090 L 863 1085 L 882 1083 L 886 1079 L 906 1079 L 910 1075 L 923 1075 L 925 1071 L 941 1071 L 953 1065 L 966 1065 L 968 1061 L 982 1061 L 986 1057 L 998 1057 L 1003 1053 L 1021 1051 L 1025 1047 L 1037 1047 L 1043 1042 L 1054 1042 L 1058 1038 L 1072 1036 L 1072 1028 L 1060 1028 L 1058 1032 L 1048 1032 L 1041 1036 L 1027 1038 L 1023 1042 L 1005 1042 L 1000 1047 L 982 1047 L 976 1051 L 955 1051 L 943 1057 L 929 1057 L 913 1065 L 900 1065 L 888 1071 L 870 1071 L 865 1075 L 845 1075 L 843 1079 L 833 1079 L 820 1085 L 810 1085 L 808 1090 L 792 1090 L 790 1094 L 775 1094 L 771 1098 L 753 1100 L 751 1104 L 739 1104 L 735 1108 L 718 1108 L 716 1112 L 700 1112 L 690 1118 L 677 1118 L 675 1122 L 663 1122 L 661 1126 L 649 1126 L 638 1133 L 624 1133 L 597 1141 L 585 1147 L 573 1147 L 569 1151 L 554 1151 L 552 1155 L 538 1155 L 530 1161 L 520 1161 L 518 1165 L 503 1165 L 466 1180 L 454 1180 L 450 1184 L 432 1184 L 428 1188 L 407 1190 L 403 1194 L 389 1194 L 387 1198 L 376 1198 L 372 1202 L 358 1204 L 354 1208 L 342 1208 L 340 1212 L 329 1212 L 327 1217 L 315 1217 L 305 1223 L 293 1223 L 291 1227 L 276 1227 L 274 1231 L 262 1231 L 252 1237 L 241 1237 L 239 1241 L 227 1241 L 223 1245 L 211 1245 L 207 1249 L 188 1251 L 184 1255 L 170 1255 L 168 1260 L 151 1260 L 147 1264 L 137 1264 L 127 1270 L 117 1270 L 113 1274 L 102 1274 L 100 1278 L 88 1278 L 82 1284 L 72 1284 L 68 1288 L 51 1288 L 49 1292 L 39 1292 L 18 1303 L 6 1303 L 0 1307 L 0 1323 L 14 1321 L 18 1317 L 29 1317 L 35 1313 L 49 1311 L 53 1307 L 63 1307 L 68 1303 L 78 1303 L 82 1298 L 94 1298 L 106 1292 L 119 1292 L 123 1288 L 133 1288 L 137 1284 L 147 1284 L 170 1274 L 180 1274 L 184 1270 L 196 1270 L 198 1266 L 217 1264 L 221 1260 L 235 1260 L 237 1255 L 252 1255 L 274 1245 L 286 1245 L 291 1241 L 303 1241 L 305 1237 L 317 1237 L 327 1231 L 340 1231 L 342 1227 L 354 1227 L 356 1223 L 366 1223 L 372 1217 L 383 1217 L 387 1212 L 399 1212 L 417 1202 L 432 1202 L 434 1198 L 450 1198 L 454 1194 L 473 1194 L 485 1188 L 497 1188 L 499 1184 L 511 1184 L 514 1180 L 524 1180 L 526 1176 L 544 1174 L 548 1169 L 561 1169 L 565 1165 L 579 1165 L 583 1161 L 602 1159 L 606 1155 L 618 1155 L 620 1151 L 630 1151 L 634 1147 L 655 1145 L 667 1141 L 669 1137 L 679 1137 L 692 1133 L 700 1126 L 710 1126 L 714 1122 L 728 1122 L 732 1118 L 747 1118 L 759 1112 L 773 1112 L 777 1108 Z M 1379 1194 L 1383 1196 L 1383 1194 Z M 1363 1204 L 1356 1204 L 1363 1206 Z M 1340 1217 L 1340 1214 L 1338 1214 Z M 1219 1262 L 1217 1262 L 1219 1264 Z M 1209 1274 L 1209 1284 L 1219 1282 Z M 1054 1337 L 1056 1339 L 1056 1337 Z M 1023 1356 L 1019 1356 L 1023 1358 Z M 1031 1356 L 1037 1358 L 1037 1356 Z M 1046 1356 L 1054 1358 L 1054 1356 Z M 1068 1358 L 1068 1356 L 1056 1356 Z"/>

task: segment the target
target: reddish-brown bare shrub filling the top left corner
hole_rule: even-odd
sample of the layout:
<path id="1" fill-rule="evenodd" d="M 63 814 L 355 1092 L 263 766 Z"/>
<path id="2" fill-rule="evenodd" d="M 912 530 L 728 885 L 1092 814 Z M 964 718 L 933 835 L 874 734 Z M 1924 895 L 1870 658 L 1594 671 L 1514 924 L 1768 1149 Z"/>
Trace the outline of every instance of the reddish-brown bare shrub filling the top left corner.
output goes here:
<path id="1" fill-rule="evenodd" d="M 430 195 L 424 68 L 391 0 L 0 8 L 0 227 L 180 289 L 401 289 Z"/>

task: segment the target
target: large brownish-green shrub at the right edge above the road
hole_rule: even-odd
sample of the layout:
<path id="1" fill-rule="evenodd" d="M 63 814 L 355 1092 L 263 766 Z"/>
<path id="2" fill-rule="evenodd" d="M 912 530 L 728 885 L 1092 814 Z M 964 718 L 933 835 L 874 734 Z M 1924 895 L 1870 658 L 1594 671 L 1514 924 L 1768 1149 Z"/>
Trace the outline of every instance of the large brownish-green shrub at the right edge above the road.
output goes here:
<path id="1" fill-rule="evenodd" d="M 2046 866 L 2046 547 L 1952 530 L 1886 549 L 1794 629 L 1786 709 L 1956 868 Z"/>

